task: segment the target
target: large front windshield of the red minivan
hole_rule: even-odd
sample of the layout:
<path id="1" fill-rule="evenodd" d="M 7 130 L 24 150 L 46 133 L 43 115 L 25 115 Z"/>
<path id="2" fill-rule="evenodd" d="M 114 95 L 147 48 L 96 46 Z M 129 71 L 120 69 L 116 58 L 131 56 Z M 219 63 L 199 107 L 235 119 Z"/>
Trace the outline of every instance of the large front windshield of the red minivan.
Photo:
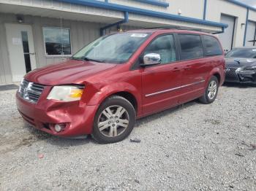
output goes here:
<path id="1" fill-rule="evenodd" d="M 125 63 L 148 39 L 148 33 L 119 33 L 102 36 L 83 47 L 72 59 L 102 63 Z"/>

